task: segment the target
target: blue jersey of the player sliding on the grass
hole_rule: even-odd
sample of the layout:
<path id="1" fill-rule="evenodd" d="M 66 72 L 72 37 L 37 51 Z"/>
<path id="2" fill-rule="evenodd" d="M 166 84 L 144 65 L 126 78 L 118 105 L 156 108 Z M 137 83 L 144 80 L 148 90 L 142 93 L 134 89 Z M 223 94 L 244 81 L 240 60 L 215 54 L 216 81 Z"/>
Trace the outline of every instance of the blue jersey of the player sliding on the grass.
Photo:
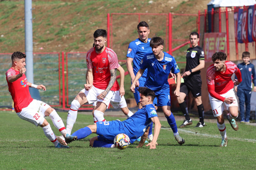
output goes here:
<path id="1" fill-rule="evenodd" d="M 126 135 L 130 137 L 130 140 L 142 136 L 146 131 L 146 127 L 151 124 L 151 118 L 155 116 L 157 116 L 157 112 L 155 111 L 154 105 L 145 105 L 134 113 L 134 115 L 130 116 L 130 118 L 122 122 Z"/>

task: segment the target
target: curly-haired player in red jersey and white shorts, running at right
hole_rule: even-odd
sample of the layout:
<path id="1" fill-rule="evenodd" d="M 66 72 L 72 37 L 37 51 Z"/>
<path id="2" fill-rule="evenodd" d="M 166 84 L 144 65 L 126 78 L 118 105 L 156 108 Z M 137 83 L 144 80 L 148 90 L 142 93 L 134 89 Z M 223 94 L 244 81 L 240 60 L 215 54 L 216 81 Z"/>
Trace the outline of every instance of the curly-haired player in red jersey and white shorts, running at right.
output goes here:
<path id="1" fill-rule="evenodd" d="M 217 126 L 222 136 L 220 146 L 227 146 L 226 126 L 224 124 L 223 112 L 227 112 L 227 119 L 234 130 L 238 130 L 235 118 L 238 117 L 238 103 L 236 100 L 234 85 L 242 81 L 240 69 L 235 63 L 226 61 L 224 52 L 215 52 L 212 56 L 213 65 L 207 69 L 207 87 L 213 116 L 217 118 Z M 235 73 L 238 80 L 232 80 Z M 227 110 L 224 111 L 224 106 Z"/>

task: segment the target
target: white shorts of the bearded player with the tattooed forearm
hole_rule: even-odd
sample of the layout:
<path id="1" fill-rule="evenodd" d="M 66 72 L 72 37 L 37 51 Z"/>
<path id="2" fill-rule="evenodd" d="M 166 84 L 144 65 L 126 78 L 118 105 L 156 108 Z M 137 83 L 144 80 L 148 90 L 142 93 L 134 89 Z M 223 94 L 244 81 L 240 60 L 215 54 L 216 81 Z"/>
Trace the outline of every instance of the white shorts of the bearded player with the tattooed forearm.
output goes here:
<path id="1" fill-rule="evenodd" d="M 97 96 L 99 96 L 99 94 L 101 94 L 105 90 L 96 88 L 94 86 L 90 90 L 85 90 L 84 88 L 81 91 L 85 93 L 85 96 L 87 97 L 87 101 L 89 104 L 93 104 L 94 102 L 102 102 L 108 106 L 113 96 L 113 91 L 109 91 L 107 96 L 105 96 L 104 99 L 98 99 Z"/>

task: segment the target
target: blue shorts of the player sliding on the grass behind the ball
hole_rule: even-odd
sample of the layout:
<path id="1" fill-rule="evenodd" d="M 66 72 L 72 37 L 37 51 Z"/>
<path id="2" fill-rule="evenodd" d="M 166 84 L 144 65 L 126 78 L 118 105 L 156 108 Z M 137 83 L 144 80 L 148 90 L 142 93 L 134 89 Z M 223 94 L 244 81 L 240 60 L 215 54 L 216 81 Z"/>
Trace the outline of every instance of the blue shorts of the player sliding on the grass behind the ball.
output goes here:
<path id="1" fill-rule="evenodd" d="M 115 136 L 119 133 L 126 133 L 124 131 L 124 126 L 121 121 L 105 121 L 96 122 L 97 134 L 99 136 L 104 136 L 106 140 L 114 140 Z"/>

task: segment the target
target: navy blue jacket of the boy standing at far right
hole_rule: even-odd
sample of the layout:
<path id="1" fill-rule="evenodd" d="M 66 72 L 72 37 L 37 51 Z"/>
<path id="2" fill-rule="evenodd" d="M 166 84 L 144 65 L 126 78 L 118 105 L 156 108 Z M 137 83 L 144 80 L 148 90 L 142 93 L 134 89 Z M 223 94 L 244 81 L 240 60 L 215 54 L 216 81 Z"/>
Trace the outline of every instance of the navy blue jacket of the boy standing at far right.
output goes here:
<path id="1" fill-rule="evenodd" d="M 252 63 L 246 65 L 243 62 L 238 64 L 237 67 L 240 69 L 243 79 L 243 81 L 237 87 L 243 90 L 252 90 L 252 79 L 254 85 L 256 85 L 256 74 L 254 65 Z M 236 76 L 235 79 L 237 79 Z"/>

